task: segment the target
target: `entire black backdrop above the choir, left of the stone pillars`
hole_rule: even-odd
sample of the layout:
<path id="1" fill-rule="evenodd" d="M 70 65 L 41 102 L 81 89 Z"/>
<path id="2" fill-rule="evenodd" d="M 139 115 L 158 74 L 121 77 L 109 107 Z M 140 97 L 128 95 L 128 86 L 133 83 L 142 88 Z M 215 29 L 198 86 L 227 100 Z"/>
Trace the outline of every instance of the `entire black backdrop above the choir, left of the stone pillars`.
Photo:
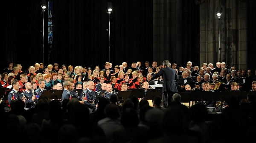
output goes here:
<path id="1" fill-rule="evenodd" d="M 152 0 L 53 0 L 52 47 L 47 43 L 47 11 L 44 13 L 44 64 L 104 68 L 109 62 L 109 14 L 107 2 L 112 2 L 110 28 L 110 62 L 153 62 Z M 1 16 L 5 33 L 2 39 L 1 69 L 6 62 L 29 65 L 43 62 L 43 12 L 40 0 L 3 1 Z M 20 8 L 23 7 L 23 8 Z"/>

